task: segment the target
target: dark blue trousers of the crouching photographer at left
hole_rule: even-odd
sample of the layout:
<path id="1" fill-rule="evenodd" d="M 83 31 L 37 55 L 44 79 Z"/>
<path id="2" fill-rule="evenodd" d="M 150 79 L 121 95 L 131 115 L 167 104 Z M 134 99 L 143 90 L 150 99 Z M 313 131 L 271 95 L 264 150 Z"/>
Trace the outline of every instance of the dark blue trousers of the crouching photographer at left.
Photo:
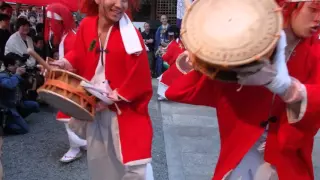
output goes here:
<path id="1" fill-rule="evenodd" d="M 17 108 L 11 108 L 5 132 L 8 134 L 28 133 L 29 126 L 24 118 L 39 111 L 39 104 L 35 101 L 23 101 Z"/>

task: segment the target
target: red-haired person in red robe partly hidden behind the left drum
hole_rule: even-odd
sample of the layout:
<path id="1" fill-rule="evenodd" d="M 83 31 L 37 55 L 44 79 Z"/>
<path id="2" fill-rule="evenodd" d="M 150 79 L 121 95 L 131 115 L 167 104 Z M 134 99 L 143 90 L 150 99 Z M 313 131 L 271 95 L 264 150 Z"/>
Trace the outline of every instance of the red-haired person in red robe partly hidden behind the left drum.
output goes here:
<path id="1" fill-rule="evenodd" d="M 63 4 L 55 3 L 47 7 L 47 20 L 46 20 L 46 37 L 50 46 L 59 46 L 59 58 L 62 59 L 65 54 L 72 50 L 76 40 L 76 24 L 73 20 L 71 11 Z M 53 36 L 53 39 L 51 38 Z M 57 120 L 65 124 L 70 148 L 60 159 L 61 162 L 69 163 L 81 157 L 80 147 L 87 145 L 86 140 L 78 137 L 69 127 L 68 122 L 70 116 L 61 112 L 57 114 Z"/>

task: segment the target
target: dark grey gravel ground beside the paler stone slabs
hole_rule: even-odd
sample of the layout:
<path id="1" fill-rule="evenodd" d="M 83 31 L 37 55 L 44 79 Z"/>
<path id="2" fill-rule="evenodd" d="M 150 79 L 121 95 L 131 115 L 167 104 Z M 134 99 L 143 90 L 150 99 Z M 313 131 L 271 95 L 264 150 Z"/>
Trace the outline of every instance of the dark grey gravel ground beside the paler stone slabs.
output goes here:
<path id="1" fill-rule="evenodd" d="M 162 118 L 156 99 L 154 96 L 149 104 L 154 128 L 152 165 L 155 180 L 168 180 Z M 2 158 L 4 180 L 89 179 L 86 156 L 69 164 L 59 162 L 69 143 L 64 125 L 55 120 L 55 113 L 52 108 L 42 108 L 39 114 L 27 118 L 28 134 L 5 137 Z"/>

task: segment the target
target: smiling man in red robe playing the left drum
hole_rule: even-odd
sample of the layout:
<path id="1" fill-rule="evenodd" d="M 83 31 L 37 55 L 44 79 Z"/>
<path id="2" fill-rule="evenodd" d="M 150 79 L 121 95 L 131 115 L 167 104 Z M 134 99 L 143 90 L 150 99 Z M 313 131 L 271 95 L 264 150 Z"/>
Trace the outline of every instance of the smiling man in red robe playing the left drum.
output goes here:
<path id="1" fill-rule="evenodd" d="M 148 57 L 140 32 L 125 14 L 128 6 L 136 2 L 85 0 L 88 16 L 78 28 L 73 50 L 51 63 L 74 69 L 97 87 L 105 84 L 108 92 L 97 96 L 102 100 L 100 108 L 86 127 L 92 180 L 153 179 Z"/>

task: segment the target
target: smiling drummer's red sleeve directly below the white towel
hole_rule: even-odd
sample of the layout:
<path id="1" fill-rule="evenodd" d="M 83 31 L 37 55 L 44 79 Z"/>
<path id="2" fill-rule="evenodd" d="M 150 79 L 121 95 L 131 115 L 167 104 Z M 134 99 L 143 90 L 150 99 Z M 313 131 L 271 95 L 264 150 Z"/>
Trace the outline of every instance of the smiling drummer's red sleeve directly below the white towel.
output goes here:
<path id="1" fill-rule="evenodd" d="M 140 34 L 139 38 L 140 43 L 143 44 Z M 152 94 L 148 56 L 145 46 L 142 47 L 143 51 L 139 55 L 127 55 L 126 61 L 134 62 L 134 64 L 123 84 L 117 89 L 119 97 L 127 102 L 135 101 L 146 94 Z"/>

